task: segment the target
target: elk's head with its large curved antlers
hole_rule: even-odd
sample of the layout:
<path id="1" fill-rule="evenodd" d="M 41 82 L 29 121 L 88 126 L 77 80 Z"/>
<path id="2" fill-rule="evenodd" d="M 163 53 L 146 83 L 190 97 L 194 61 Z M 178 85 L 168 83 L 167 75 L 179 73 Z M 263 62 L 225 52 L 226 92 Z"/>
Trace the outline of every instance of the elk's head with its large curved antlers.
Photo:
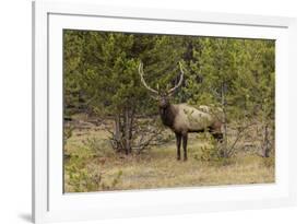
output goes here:
<path id="1" fill-rule="evenodd" d="M 141 82 L 142 84 L 153 94 L 152 96 L 158 101 L 158 106 L 161 108 L 165 108 L 167 106 L 169 106 L 169 96 L 172 96 L 175 91 L 184 82 L 184 69 L 182 69 L 182 64 L 179 62 L 179 69 L 180 69 L 180 80 L 179 82 L 172 89 L 169 90 L 154 90 L 152 87 L 150 87 L 145 80 L 144 80 L 144 71 L 143 71 L 143 63 L 140 62 L 139 64 L 139 74 L 141 76 Z"/>

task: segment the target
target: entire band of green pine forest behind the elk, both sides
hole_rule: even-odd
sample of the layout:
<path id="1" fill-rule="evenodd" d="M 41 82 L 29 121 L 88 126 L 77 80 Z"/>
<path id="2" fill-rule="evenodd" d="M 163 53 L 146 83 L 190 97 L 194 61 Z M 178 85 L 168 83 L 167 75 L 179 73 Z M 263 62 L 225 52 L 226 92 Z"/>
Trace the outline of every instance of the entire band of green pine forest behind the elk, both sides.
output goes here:
<path id="1" fill-rule="evenodd" d="M 249 148 L 273 156 L 275 42 L 269 39 L 64 30 L 66 142 L 81 120 L 103 127 L 118 155 L 142 154 L 172 141 L 156 101 L 141 84 L 141 61 L 146 82 L 158 90 L 178 82 L 180 61 L 185 79 L 173 103 L 222 111 L 225 141 L 201 146 L 196 158 L 220 161 Z"/>

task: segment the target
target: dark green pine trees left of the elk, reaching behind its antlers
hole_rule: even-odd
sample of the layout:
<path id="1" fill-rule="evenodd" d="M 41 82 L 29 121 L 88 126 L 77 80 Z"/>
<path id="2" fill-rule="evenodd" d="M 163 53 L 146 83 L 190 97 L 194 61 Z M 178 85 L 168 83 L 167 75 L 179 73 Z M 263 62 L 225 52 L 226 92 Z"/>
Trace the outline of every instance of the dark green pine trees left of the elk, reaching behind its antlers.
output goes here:
<path id="1" fill-rule="evenodd" d="M 129 154 L 140 144 L 150 145 L 134 141 L 147 132 L 134 130 L 138 117 L 157 114 L 156 103 L 141 85 L 139 62 L 144 62 L 151 85 L 166 89 L 176 81 L 184 52 L 180 36 L 64 31 L 66 116 L 82 111 L 111 118 L 117 152 Z"/>

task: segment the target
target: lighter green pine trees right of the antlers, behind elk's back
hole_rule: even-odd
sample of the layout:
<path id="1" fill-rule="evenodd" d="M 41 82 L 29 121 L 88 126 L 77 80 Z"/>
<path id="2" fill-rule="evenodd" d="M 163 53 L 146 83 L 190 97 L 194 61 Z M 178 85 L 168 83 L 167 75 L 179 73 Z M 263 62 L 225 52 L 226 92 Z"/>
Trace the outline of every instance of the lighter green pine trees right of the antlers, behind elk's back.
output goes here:
<path id="1" fill-rule="evenodd" d="M 257 120 L 274 129 L 274 46 L 273 40 L 205 37 L 193 49 L 185 92 L 190 104 L 221 108 L 223 156 L 233 154 L 240 139 L 229 142 L 229 128 L 241 134 Z M 241 126 L 234 126 L 237 121 Z M 268 145 L 273 138 L 263 139 Z"/>

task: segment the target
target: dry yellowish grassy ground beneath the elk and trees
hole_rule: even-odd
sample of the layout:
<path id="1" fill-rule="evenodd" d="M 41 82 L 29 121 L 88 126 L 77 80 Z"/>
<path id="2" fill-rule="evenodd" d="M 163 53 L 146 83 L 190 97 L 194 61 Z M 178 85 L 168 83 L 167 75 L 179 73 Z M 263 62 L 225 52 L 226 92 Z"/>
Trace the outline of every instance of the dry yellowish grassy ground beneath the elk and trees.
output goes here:
<path id="1" fill-rule="evenodd" d="M 175 141 L 141 155 L 119 156 L 104 130 L 73 131 L 64 153 L 64 190 L 101 191 L 263 184 L 274 181 L 274 163 L 255 154 L 238 154 L 227 165 L 196 160 L 203 140 L 191 135 L 188 161 L 176 160 Z"/>

